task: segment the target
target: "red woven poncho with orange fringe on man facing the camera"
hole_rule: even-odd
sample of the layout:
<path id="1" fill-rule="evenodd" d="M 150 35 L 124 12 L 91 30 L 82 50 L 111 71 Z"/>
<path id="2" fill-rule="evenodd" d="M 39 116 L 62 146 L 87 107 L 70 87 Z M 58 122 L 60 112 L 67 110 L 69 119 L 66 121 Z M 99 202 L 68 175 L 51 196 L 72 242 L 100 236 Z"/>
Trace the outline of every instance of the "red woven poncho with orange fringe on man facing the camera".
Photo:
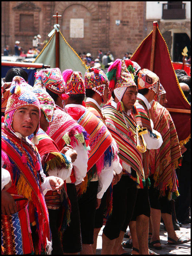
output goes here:
<path id="1" fill-rule="evenodd" d="M 35 170 L 35 149 L 24 139 L 21 139 L 21 146 L 21 140 L 5 124 L 2 125 L 1 139 L 3 167 L 10 172 L 12 180 L 12 186 L 7 192 L 12 194 L 14 199 L 24 199 L 17 201 L 17 213 L 1 215 L 5 254 L 41 254 L 42 250 L 47 251 L 47 245 L 51 244 L 51 233 L 48 211 L 40 187 L 40 174 Z M 25 155 L 27 163 L 21 161 L 21 155 Z M 40 161 L 39 155 L 38 158 Z M 42 173 L 41 165 L 40 170 Z M 30 223 L 36 225 L 38 244 L 35 244 L 35 248 Z"/>

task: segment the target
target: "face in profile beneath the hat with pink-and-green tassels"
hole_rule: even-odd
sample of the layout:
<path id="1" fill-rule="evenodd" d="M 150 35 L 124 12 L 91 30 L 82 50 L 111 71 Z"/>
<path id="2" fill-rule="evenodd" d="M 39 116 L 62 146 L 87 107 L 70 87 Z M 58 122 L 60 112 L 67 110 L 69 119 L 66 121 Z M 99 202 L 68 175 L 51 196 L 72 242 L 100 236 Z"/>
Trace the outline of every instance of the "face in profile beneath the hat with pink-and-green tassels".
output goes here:
<path id="1" fill-rule="evenodd" d="M 124 104 L 125 111 L 132 109 L 134 103 L 136 102 L 137 99 L 137 87 L 136 86 L 130 86 L 127 87 L 121 101 Z"/>

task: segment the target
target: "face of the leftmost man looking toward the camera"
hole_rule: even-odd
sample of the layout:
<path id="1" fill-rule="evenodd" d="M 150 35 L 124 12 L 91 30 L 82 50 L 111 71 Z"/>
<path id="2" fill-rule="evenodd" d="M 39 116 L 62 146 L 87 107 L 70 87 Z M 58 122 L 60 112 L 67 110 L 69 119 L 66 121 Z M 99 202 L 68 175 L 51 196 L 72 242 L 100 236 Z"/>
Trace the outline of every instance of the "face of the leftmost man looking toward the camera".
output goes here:
<path id="1" fill-rule="evenodd" d="M 24 137 L 35 132 L 39 123 L 39 110 L 34 106 L 23 106 L 15 111 L 12 128 Z"/>

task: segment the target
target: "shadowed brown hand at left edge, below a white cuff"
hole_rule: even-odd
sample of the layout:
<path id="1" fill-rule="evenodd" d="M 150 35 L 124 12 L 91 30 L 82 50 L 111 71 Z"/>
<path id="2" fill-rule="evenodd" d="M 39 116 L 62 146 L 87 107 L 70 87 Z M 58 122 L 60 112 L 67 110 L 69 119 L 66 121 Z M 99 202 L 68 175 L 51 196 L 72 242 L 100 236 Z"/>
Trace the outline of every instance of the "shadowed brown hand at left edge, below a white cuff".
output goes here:
<path id="1" fill-rule="evenodd" d="M 17 212 L 17 206 L 12 195 L 3 190 L 1 191 L 1 212 L 6 215 Z"/>

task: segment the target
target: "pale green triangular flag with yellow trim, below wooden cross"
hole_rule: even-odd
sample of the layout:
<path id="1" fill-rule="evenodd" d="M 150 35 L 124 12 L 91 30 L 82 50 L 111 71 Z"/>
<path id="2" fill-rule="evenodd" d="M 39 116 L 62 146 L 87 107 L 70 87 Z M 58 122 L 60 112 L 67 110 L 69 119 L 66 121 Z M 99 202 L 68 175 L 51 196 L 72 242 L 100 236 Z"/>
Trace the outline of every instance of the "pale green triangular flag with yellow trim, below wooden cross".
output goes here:
<path id="1" fill-rule="evenodd" d="M 33 63 L 43 63 L 44 65 L 50 65 L 51 68 L 55 68 L 55 33 Z M 73 71 L 80 71 L 83 77 L 87 69 L 87 66 L 83 63 L 75 50 L 67 43 L 60 31 L 59 68 L 61 72 L 68 68 L 73 69 Z"/>

